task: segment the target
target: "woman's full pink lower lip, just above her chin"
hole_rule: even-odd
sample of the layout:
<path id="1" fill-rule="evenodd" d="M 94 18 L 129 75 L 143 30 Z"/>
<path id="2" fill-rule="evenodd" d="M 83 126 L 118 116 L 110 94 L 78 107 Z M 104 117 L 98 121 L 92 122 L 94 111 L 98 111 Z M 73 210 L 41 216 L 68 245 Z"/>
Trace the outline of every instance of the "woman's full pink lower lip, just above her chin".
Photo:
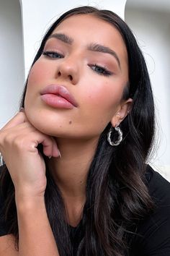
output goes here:
<path id="1" fill-rule="evenodd" d="M 40 96 L 42 101 L 44 101 L 48 106 L 52 106 L 53 108 L 73 108 L 73 104 L 67 101 L 65 98 L 59 97 L 54 94 L 43 94 Z"/>

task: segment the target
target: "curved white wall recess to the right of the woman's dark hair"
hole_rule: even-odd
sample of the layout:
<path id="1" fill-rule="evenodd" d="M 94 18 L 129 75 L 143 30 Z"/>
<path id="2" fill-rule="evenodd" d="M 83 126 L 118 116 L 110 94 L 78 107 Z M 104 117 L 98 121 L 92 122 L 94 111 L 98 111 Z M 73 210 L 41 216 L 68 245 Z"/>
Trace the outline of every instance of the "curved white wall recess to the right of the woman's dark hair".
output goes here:
<path id="1" fill-rule="evenodd" d="M 170 9 L 135 7 L 127 1 L 125 21 L 130 25 L 142 49 L 151 77 L 156 101 L 156 153 L 152 166 L 170 180 Z"/>

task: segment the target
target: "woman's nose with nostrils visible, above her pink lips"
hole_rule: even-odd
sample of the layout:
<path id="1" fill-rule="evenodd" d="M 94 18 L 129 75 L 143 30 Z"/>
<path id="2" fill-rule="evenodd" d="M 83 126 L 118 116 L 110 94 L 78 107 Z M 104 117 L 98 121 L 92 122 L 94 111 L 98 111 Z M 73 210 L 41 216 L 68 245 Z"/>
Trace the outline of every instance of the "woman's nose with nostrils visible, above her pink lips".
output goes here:
<path id="1" fill-rule="evenodd" d="M 63 58 L 58 65 L 57 77 L 60 77 L 63 80 L 68 80 L 73 85 L 76 85 L 79 81 L 78 62 L 71 57 Z"/>

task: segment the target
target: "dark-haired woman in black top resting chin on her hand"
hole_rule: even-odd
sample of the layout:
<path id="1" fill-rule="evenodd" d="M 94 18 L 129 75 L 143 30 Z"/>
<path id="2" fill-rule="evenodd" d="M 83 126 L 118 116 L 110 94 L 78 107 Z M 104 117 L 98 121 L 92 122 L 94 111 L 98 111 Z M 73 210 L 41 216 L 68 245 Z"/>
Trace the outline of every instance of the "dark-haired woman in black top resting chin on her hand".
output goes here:
<path id="1" fill-rule="evenodd" d="M 125 22 L 63 14 L 21 106 L 0 132 L 0 255 L 169 255 L 170 185 L 146 165 L 153 94 Z"/>

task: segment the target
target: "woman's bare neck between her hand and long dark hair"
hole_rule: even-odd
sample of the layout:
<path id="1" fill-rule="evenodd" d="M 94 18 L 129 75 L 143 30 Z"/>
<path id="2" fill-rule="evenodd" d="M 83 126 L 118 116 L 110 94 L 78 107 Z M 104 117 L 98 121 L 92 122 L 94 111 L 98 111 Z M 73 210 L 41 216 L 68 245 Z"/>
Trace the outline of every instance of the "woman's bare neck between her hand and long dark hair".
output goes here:
<path id="1" fill-rule="evenodd" d="M 57 139 L 61 158 L 50 158 L 48 168 L 61 191 L 66 219 L 71 226 L 81 220 L 86 202 L 86 179 L 98 139 L 68 141 Z"/>

